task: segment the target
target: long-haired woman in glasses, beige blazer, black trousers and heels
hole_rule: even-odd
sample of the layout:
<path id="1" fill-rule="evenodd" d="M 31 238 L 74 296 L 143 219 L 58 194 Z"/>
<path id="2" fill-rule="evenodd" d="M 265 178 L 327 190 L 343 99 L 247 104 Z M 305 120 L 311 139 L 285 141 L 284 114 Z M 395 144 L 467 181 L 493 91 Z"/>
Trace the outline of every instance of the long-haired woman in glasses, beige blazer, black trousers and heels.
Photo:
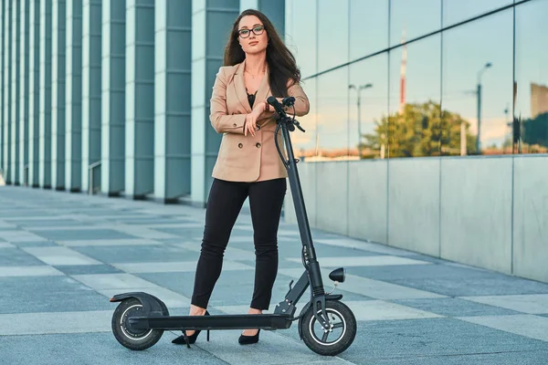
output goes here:
<path id="1" fill-rule="evenodd" d="M 207 304 L 221 274 L 223 255 L 242 204 L 249 198 L 256 255 L 255 288 L 249 314 L 269 309 L 278 274 L 278 227 L 287 172 L 274 142 L 275 111 L 267 103 L 295 98 L 297 116 L 309 112 L 300 70 L 274 26 L 262 13 L 237 17 L 216 74 L 210 120 L 223 134 L 205 213 L 205 231 L 195 273 L 190 315 L 208 315 Z M 293 107 L 288 110 L 293 113 Z M 283 146 L 281 135 L 277 136 Z M 200 331 L 183 331 L 174 343 L 194 343 Z M 240 344 L 256 343 L 258 329 L 246 329 Z"/>

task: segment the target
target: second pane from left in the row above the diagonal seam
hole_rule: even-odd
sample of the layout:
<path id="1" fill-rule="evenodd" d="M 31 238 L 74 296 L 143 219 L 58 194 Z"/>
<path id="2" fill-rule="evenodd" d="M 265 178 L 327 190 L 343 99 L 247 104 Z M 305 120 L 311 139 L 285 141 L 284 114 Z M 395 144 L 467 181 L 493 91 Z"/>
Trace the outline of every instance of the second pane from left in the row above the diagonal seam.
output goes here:
<path id="1" fill-rule="evenodd" d="M 319 72 L 348 61 L 348 21 L 348 0 L 318 0 Z"/>

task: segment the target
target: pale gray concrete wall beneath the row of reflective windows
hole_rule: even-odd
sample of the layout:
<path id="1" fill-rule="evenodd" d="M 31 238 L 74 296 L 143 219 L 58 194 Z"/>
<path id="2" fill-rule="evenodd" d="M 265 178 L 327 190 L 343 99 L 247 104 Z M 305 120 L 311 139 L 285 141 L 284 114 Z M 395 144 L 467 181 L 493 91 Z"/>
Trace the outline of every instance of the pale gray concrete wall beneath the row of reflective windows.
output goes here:
<path id="1" fill-rule="evenodd" d="M 311 227 L 548 282 L 547 155 L 300 163 Z M 284 219 L 296 223 L 291 194 Z"/>

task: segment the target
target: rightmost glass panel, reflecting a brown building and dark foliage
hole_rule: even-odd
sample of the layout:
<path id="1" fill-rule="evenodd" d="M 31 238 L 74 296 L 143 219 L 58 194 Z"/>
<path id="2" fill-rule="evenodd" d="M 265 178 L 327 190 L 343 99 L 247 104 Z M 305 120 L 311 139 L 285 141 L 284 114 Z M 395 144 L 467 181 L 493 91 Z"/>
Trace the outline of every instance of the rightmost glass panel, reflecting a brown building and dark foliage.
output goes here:
<path id="1" fill-rule="evenodd" d="M 516 153 L 548 152 L 546 14 L 548 1 L 516 6 L 515 143 L 511 142 L 511 126 L 507 139 Z"/>

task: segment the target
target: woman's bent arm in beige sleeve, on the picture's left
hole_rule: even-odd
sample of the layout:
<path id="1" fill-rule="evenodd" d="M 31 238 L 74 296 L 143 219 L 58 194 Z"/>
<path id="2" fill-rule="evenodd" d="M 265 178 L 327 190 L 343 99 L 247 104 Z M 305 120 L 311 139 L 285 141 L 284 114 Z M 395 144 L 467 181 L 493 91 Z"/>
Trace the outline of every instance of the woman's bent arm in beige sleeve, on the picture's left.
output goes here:
<path id="1" fill-rule="evenodd" d="M 244 134 L 246 114 L 228 115 L 227 110 L 227 79 L 225 68 L 219 68 L 216 74 L 213 93 L 210 99 L 209 120 L 217 133 Z"/>

